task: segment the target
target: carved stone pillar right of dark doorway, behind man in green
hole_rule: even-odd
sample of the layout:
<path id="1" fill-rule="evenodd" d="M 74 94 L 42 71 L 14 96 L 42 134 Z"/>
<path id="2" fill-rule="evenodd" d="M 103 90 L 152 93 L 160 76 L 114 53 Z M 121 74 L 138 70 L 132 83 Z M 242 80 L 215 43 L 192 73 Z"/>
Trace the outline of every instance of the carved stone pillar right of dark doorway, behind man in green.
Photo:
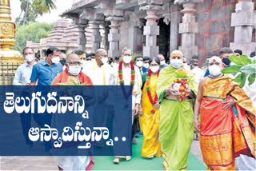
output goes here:
<path id="1" fill-rule="evenodd" d="M 194 13 L 198 2 L 203 0 L 175 0 L 183 6 L 181 13 L 183 14 L 182 23 L 179 24 L 179 33 L 182 34 L 182 46 L 178 49 L 182 51 L 186 58 L 192 58 L 198 55 L 198 46 L 195 46 L 195 34 L 198 33 L 198 22 L 195 22 Z"/>

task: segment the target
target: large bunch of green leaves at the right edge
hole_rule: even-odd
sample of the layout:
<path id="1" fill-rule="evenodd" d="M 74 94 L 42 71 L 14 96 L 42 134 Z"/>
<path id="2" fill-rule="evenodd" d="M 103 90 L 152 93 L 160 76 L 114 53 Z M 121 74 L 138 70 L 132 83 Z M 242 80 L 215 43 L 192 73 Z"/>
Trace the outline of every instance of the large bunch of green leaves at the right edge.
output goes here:
<path id="1" fill-rule="evenodd" d="M 236 65 L 223 69 L 223 74 L 240 73 L 233 81 L 238 82 L 241 88 L 246 85 L 246 79 L 249 82 L 248 85 L 252 85 L 255 82 L 256 60 L 252 62 L 246 55 L 242 55 L 240 58 L 236 55 L 232 55 L 230 56 L 230 61 L 234 62 Z"/>

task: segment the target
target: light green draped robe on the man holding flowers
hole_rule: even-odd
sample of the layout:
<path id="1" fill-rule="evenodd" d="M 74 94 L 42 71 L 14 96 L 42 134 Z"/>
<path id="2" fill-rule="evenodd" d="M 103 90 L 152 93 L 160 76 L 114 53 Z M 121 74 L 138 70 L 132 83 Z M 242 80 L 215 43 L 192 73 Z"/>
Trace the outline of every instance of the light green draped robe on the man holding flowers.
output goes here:
<path id="1" fill-rule="evenodd" d="M 166 170 L 186 169 L 194 135 L 192 99 L 175 101 L 165 99 L 166 88 L 174 83 L 176 70 L 169 66 L 158 78 L 157 93 L 160 102 L 159 140 L 162 146 L 163 165 Z M 190 89 L 195 93 L 194 74 L 186 70 Z"/>

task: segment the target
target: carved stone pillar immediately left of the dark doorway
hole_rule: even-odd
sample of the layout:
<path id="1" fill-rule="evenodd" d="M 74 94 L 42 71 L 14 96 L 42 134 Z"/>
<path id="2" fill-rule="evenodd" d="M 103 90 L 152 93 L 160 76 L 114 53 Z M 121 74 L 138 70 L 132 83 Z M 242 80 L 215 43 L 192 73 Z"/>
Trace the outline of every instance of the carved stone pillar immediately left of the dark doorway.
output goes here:
<path id="1" fill-rule="evenodd" d="M 163 10 L 162 0 L 145 1 L 139 0 L 138 5 L 142 6 L 139 10 L 146 10 L 146 26 L 144 26 L 143 35 L 146 36 L 146 46 L 143 46 L 143 56 L 157 57 L 159 47 L 157 46 L 157 36 L 159 35 L 159 26 L 156 20 L 158 10 Z"/>

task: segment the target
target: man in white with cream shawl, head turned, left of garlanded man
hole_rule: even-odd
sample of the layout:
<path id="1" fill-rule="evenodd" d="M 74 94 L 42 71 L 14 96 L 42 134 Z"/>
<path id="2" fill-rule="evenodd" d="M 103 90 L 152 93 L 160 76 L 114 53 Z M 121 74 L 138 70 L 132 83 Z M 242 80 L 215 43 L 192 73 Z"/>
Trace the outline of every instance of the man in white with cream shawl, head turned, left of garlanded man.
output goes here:
<path id="1" fill-rule="evenodd" d="M 108 64 L 108 60 L 106 50 L 98 49 L 95 61 L 82 69 L 82 72 L 90 77 L 94 85 L 114 85 L 114 70 Z"/>

